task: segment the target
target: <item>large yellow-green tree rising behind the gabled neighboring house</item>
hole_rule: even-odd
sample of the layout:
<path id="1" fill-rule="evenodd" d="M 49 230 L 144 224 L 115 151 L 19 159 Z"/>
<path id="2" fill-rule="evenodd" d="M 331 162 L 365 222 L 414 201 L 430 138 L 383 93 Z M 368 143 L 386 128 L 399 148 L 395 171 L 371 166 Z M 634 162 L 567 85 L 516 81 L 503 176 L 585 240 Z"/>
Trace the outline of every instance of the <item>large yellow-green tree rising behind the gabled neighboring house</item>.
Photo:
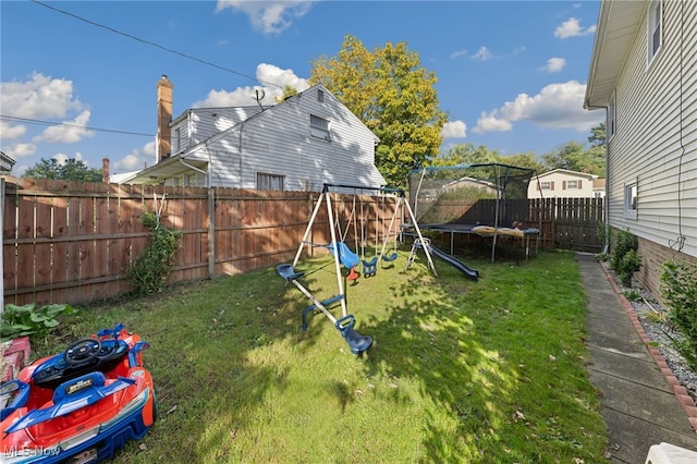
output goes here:
<path id="1" fill-rule="evenodd" d="M 448 120 L 438 80 L 406 42 L 369 51 L 346 35 L 337 57 L 313 62 L 309 81 L 323 84 L 378 136 L 376 166 L 390 186 L 404 186 L 409 171 L 438 154 Z"/>

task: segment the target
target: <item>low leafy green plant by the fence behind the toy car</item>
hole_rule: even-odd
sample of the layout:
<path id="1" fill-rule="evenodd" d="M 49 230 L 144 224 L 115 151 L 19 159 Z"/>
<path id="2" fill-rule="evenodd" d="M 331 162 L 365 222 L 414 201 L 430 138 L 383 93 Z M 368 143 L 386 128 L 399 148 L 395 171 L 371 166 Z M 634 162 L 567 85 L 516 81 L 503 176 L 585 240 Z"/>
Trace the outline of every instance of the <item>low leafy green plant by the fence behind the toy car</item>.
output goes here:
<path id="1" fill-rule="evenodd" d="M 7 341 L 17 337 L 46 337 L 59 322 L 56 319 L 61 314 L 71 315 L 77 309 L 70 305 L 46 305 L 37 308 L 34 303 L 24 306 L 5 305 L 0 315 L 0 340 Z"/>

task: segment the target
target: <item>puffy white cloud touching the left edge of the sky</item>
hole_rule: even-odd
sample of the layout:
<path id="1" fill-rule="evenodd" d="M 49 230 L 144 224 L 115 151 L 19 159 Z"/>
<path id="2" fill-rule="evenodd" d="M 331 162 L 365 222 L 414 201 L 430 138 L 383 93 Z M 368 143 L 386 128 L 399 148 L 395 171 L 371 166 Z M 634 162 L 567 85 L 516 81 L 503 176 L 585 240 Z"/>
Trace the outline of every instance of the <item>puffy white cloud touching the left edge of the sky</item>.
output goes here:
<path id="1" fill-rule="evenodd" d="M 64 118 L 84 106 L 73 98 L 73 82 L 34 73 L 29 81 L 0 83 L 0 108 L 5 115 L 27 119 Z"/>

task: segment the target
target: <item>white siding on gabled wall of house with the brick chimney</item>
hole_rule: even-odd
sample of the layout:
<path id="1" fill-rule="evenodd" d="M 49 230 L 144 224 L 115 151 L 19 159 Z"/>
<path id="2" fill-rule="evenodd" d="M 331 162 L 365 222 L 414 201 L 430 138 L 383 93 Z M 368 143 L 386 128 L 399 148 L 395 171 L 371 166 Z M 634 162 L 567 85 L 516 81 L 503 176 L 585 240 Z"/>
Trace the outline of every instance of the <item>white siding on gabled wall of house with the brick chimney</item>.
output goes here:
<path id="1" fill-rule="evenodd" d="M 375 135 L 328 90 L 313 87 L 199 143 L 186 159 L 210 161 L 211 185 L 256 188 L 257 173 L 284 176 L 285 191 L 321 191 L 323 183 L 381 186 Z M 194 133 L 212 119 L 196 112 Z M 210 110 L 208 110 L 210 112 Z M 332 143 L 308 133 L 310 114 L 330 122 Z"/>

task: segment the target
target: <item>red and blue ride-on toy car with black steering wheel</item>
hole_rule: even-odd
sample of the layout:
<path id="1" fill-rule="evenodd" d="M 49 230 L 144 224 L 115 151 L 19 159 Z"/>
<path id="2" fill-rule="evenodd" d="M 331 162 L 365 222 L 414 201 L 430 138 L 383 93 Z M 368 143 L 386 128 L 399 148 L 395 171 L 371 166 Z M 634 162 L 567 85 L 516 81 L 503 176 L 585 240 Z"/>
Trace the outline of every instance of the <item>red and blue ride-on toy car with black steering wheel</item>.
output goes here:
<path id="1" fill-rule="evenodd" d="M 91 463 L 143 438 L 156 418 L 148 346 L 117 325 L 0 386 L 0 462 Z"/>

